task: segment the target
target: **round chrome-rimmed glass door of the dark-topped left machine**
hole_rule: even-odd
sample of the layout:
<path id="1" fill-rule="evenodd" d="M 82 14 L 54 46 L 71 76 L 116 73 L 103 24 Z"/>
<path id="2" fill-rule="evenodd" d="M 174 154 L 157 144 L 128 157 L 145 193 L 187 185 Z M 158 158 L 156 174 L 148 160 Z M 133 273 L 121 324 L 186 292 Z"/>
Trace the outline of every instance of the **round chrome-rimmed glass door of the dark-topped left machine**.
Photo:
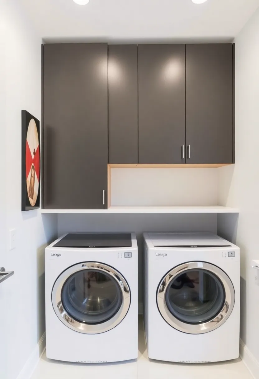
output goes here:
<path id="1" fill-rule="evenodd" d="M 85 334 L 113 329 L 126 316 L 130 301 L 130 288 L 122 274 L 97 262 L 67 268 L 52 289 L 52 304 L 60 321 Z"/>

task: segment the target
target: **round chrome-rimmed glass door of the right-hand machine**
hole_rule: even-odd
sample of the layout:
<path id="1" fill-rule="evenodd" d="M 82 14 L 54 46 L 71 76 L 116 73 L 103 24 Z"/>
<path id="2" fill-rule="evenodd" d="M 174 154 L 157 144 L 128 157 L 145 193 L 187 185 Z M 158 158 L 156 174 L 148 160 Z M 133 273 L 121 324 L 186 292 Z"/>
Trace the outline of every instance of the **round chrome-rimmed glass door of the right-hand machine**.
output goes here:
<path id="1" fill-rule="evenodd" d="M 234 307 L 235 291 L 222 269 L 206 262 L 187 262 L 162 278 L 156 299 L 170 326 L 202 334 L 225 323 Z"/>

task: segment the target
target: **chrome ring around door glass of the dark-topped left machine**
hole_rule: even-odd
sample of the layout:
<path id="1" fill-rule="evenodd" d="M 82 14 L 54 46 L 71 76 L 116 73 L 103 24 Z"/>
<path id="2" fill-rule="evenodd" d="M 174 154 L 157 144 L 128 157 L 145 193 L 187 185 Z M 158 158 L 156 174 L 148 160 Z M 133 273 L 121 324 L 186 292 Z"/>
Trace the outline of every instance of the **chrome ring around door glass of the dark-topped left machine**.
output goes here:
<path id="1" fill-rule="evenodd" d="M 81 323 L 80 321 L 77 321 L 73 319 L 64 309 L 62 301 L 61 301 L 61 293 L 62 288 L 66 280 L 73 274 L 76 274 L 83 270 L 98 270 L 102 271 L 105 274 L 109 274 L 119 285 L 119 288 L 122 293 L 122 304 L 120 306 L 120 309 L 118 312 L 115 313 L 115 315 L 101 323 L 101 324 L 86 324 Z M 100 334 L 107 332 L 108 330 L 113 329 L 115 326 L 117 326 L 123 318 L 128 313 L 128 310 L 130 308 L 130 302 L 131 302 L 131 295 L 130 295 L 130 287 L 128 286 L 128 283 L 120 274 L 118 271 L 116 271 L 111 266 L 105 265 L 103 263 L 98 262 L 81 262 L 77 263 L 76 265 L 73 265 L 69 268 L 67 268 L 63 273 L 59 275 L 59 277 L 56 279 L 56 282 L 52 289 L 52 305 L 53 309 L 60 319 L 60 321 L 65 324 L 70 329 L 75 330 L 79 333 L 84 334 Z"/>

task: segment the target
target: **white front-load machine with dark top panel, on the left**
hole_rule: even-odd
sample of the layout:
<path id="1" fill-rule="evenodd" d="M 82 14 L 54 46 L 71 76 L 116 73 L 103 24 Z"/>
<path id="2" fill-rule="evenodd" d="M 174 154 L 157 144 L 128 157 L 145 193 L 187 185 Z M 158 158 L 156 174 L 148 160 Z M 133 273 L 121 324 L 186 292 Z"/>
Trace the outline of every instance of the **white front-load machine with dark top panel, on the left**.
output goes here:
<path id="1" fill-rule="evenodd" d="M 137 256 L 133 233 L 69 233 L 45 249 L 48 358 L 137 358 Z"/>

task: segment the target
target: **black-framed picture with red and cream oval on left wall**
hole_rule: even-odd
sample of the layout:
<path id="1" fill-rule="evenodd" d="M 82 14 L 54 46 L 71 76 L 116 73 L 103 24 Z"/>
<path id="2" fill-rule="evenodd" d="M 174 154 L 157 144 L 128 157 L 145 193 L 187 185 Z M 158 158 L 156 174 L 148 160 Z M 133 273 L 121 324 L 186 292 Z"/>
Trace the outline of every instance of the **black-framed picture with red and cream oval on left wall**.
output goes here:
<path id="1" fill-rule="evenodd" d="M 30 125 L 30 131 L 29 131 L 30 134 L 28 133 L 29 125 Z M 31 135 L 33 136 L 32 138 L 30 138 Z M 33 147 L 35 146 L 35 148 L 33 149 L 33 152 L 31 152 L 31 148 L 28 143 L 30 141 L 33 141 L 31 145 L 33 145 Z M 37 145 L 37 141 L 38 141 L 38 145 Z M 26 154 L 27 154 L 27 159 L 26 159 Z M 30 179 L 30 182 L 28 178 Z M 37 189 L 37 191 L 35 188 Z M 36 119 L 36 117 L 34 117 L 28 111 L 22 110 L 22 211 L 29 211 L 29 210 L 37 209 L 40 207 L 40 192 L 41 192 L 40 122 L 38 119 Z M 29 198 L 29 194 L 31 193 L 32 195 Z"/>

